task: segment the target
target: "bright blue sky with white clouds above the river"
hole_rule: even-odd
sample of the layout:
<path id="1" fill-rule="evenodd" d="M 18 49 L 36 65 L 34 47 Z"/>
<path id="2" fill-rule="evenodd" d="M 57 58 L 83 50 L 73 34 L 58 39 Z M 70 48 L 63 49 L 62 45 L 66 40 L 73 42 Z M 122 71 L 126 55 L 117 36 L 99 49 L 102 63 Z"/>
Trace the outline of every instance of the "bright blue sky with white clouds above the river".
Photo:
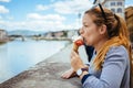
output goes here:
<path id="1" fill-rule="evenodd" d="M 0 29 L 62 31 L 79 29 L 89 0 L 0 0 Z M 125 7 L 133 0 L 125 0 Z"/>

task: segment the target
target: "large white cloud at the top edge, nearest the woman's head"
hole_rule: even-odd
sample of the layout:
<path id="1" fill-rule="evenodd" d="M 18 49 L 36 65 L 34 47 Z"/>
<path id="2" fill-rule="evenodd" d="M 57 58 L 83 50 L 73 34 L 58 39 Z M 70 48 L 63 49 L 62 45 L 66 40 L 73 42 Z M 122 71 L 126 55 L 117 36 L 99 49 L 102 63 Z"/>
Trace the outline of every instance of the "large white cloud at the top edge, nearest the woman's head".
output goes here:
<path id="1" fill-rule="evenodd" d="M 51 6 L 53 6 L 54 11 L 58 13 L 72 14 L 88 10 L 91 3 L 89 0 L 65 0 L 58 1 Z"/>

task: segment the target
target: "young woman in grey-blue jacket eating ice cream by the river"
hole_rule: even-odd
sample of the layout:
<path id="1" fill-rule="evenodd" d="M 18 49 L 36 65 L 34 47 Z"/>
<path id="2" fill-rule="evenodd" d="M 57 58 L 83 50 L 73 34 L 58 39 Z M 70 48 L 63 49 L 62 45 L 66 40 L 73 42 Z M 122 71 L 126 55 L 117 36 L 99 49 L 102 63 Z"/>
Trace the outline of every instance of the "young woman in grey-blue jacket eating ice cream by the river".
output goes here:
<path id="1" fill-rule="evenodd" d="M 62 75 L 79 75 L 83 88 L 130 88 L 131 44 L 125 21 L 101 4 L 83 16 L 81 35 L 86 45 L 94 47 L 89 69 L 79 54 L 72 51 L 72 68 Z"/>

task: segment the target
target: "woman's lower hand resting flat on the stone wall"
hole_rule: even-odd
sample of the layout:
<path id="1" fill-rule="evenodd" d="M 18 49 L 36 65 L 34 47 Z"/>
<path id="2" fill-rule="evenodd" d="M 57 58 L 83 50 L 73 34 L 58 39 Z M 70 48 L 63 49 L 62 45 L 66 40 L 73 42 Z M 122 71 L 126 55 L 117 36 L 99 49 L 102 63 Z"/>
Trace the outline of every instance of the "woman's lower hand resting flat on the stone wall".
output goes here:
<path id="1" fill-rule="evenodd" d="M 73 68 L 71 68 L 71 69 L 66 70 L 65 73 L 63 73 L 61 77 L 64 79 L 69 79 L 69 78 L 75 77 L 75 76 L 76 76 L 75 72 L 73 70 Z"/>

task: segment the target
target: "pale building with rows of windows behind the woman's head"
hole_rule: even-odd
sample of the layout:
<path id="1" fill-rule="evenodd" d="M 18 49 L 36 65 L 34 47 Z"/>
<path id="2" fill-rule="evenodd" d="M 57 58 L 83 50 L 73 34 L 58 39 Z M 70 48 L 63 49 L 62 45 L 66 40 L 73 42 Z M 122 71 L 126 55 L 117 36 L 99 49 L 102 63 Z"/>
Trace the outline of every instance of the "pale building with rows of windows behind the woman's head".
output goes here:
<path id="1" fill-rule="evenodd" d="M 112 10 L 114 13 L 125 16 L 124 15 L 124 7 L 125 7 L 125 0 L 104 0 L 102 3 L 105 8 Z"/>

